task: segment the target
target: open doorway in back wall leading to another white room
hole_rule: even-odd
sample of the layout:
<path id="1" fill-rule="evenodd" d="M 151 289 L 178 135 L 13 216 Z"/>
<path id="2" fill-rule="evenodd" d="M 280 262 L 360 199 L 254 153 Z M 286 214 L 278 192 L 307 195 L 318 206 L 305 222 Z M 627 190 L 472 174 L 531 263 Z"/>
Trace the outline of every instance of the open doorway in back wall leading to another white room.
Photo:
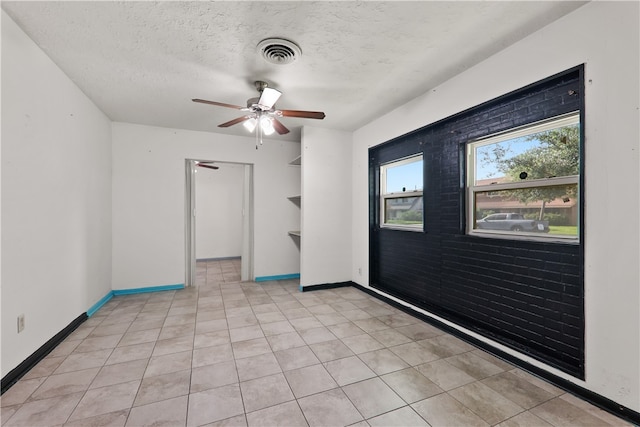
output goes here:
<path id="1" fill-rule="evenodd" d="M 186 159 L 185 170 L 185 285 L 253 280 L 253 165 Z"/>

